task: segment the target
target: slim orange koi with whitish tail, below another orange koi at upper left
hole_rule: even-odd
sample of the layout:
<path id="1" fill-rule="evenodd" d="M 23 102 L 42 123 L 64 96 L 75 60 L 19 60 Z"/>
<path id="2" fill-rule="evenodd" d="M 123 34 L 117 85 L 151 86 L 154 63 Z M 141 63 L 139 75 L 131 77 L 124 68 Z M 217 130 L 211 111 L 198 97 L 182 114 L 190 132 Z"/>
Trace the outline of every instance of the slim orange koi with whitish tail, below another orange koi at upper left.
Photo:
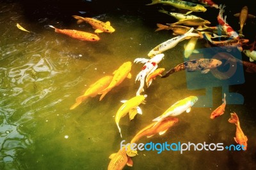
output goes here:
<path id="1" fill-rule="evenodd" d="M 55 29 L 56 33 L 61 33 L 63 35 L 68 35 L 72 38 L 76 38 L 83 41 L 96 42 L 99 41 L 100 38 L 97 35 L 93 35 L 92 33 L 87 33 L 84 31 L 77 31 L 74 29 L 58 29 L 54 26 L 49 26 Z"/>

